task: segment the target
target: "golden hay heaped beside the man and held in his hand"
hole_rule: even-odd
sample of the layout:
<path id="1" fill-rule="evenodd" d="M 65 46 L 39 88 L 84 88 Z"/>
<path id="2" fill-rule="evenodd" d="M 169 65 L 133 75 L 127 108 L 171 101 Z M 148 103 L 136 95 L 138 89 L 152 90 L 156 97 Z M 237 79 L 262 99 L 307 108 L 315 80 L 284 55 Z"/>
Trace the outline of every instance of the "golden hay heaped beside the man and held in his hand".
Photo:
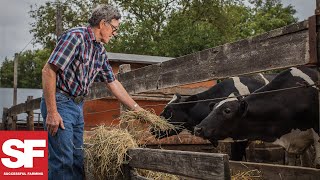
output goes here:
<path id="1" fill-rule="evenodd" d="M 120 128 L 122 127 L 122 128 Z M 121 179 L 121 166 L 126 163 L 126 152 L 138 147 L 141 138 L 150 136 L 146 128 L 174 129 L 172 124 L 149 111 L 127 111 L 120 116 L 118 127 L 99 126 L 85 140 L 85 168 L 88 179 Z M 143 146 L 143 145 L 141 145 Z M 90 175 L 91 177 L 90 177 Z M 178 179 L 164 173 L 139 170 L 153 179 Z"/>

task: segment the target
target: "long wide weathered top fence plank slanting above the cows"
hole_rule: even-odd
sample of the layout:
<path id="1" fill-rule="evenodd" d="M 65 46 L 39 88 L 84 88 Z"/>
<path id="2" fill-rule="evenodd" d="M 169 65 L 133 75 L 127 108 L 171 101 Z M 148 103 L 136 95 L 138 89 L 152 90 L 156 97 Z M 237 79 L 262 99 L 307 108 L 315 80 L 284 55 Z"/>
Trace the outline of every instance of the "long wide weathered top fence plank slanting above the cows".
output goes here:
<path id="1" fill-rule="evenodd" d="M 308 21 L 120 74 L 129 93 L 307 64 Z"/>

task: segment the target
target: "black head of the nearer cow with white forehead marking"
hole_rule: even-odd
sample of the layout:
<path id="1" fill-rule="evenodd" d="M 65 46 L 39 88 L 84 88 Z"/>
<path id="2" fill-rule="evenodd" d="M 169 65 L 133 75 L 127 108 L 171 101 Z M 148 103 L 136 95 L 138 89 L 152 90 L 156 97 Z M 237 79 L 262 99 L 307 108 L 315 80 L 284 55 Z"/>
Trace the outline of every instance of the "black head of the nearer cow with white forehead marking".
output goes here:
<path id="1" fill-rule="evenodd" d="M 242 99 L 230 98 L 217 104 L 210 104 L 211 112 L 194 128 L 196 136 L 217 140 L 234 137 L 239 131 L 241 119 L 247 112 L 247 103 Z"/>

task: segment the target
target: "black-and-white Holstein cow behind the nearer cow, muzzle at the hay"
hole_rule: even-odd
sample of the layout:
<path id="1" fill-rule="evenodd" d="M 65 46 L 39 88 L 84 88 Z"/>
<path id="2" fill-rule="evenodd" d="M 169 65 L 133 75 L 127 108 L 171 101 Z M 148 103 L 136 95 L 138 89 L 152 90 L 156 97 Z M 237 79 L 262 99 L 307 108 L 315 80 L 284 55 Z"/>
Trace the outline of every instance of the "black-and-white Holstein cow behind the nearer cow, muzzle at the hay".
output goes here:
<path id="1" fill-rule="evenodd" d="M 166 132 L 153 132 L 157 138 L 164 138 L 180 133 L 183 128 L 193 131 L 194 127 L 201 122 L 210 113 L 209 103 L 218 103 L 222 101 L 223 97 L 228 97 L 232 93 L 239 93 L 241 95 L 250 94 L 250 92 L 268 84 L 274 75 L 262 75 L 255 76 L 242 76 L 233 77 L 218 83 L 211 87 L 207 91 L 199 94 L 182 98 L 179 94 L 176 94 L 173 99 L 164 108 L 160 116 L 168 119 L 168 121 L 174 125 L 181 125 L 182 128 Z M 221 99 L 216 99 L 221 98 Z M 207 99 L 216 99 L 214 101 L 203 101 Z M 195 103 L 189 103 L 192 101 L 199 101 Z M 185 103 L 185 104 L 176 104 Z M 215 146 L 217 144 L 214 144 Z M 232 144 L 231 154 L 232 160 L 242 160 L 243 154 L 245 154 L 245 147 L 247 141 L 237 142 Z"/>

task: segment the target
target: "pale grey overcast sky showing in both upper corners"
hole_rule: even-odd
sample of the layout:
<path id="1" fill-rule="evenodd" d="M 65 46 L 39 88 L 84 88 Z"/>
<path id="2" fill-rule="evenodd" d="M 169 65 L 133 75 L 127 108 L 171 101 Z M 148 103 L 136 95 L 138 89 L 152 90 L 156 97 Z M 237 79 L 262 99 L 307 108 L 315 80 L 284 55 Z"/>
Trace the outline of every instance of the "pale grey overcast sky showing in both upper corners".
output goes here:
<path id="1" fill-rule="evenodd" d="M 14 53 L 22 50 L 37 49 L 33 46 L 29 17 L 30 5 L 43 4 L 48 0 L 0 0 L 0 66 L 5 57 L 13 59 Z M 53 1 L 53 0 L 50 0 Z M 316 0 L 282 0 L 284 5 L 291 4 L 297 10 L 300 21 L 314 14 Z"/>

